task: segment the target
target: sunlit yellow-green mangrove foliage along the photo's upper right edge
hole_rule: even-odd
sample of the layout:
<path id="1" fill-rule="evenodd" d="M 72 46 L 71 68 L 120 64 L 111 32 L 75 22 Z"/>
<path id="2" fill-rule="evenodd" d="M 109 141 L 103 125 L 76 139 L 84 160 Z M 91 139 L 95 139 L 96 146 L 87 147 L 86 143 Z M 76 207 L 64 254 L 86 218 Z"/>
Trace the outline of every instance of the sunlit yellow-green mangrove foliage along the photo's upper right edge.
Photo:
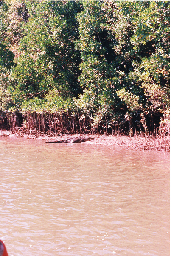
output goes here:
<path id="1" fill-rule="evenodd" d="M 164 113 L 169 108 L 170 2 L 126 1 L 120 8 L 134 25 L 130 42 L 140 61 L 133 73 L 144 91 L 144 111 Z"/>

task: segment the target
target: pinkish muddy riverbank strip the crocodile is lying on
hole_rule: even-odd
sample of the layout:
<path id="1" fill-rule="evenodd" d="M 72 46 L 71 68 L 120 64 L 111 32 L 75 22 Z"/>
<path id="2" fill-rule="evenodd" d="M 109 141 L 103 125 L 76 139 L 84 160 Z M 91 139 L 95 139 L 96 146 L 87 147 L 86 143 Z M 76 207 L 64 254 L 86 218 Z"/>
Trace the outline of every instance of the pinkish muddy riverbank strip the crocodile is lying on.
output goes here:
<path id="1" fill-rule="evenodd" d="M 75 135 L 76 136 L 76 135 Z M 78 134 L 77 134 L 78 136 Z M 83 135 L 84 136 L 84 135 Z M 20 131 L 11 133 L 10 131 L 0 131 L 0 137 L 22 137 L 24 139 L 44 140 L 53 141 L 63 138 L 74 137 L 73 135 L 63 136 L 48 136 L 48 135 L 37 135 L 37 134 L 22 134 Z M 168 136 L 165 137 L 143 137 L 143 136 L 114 136 L 114 135 L 90 135 L 93 140 L 86 141 L 86 144 L 95 145 L 111 145 L 120 146 L 123 148 L 130 148 L 134 150 L 155 150 L 155 151 L 169 151 L 170 140 Z"/>

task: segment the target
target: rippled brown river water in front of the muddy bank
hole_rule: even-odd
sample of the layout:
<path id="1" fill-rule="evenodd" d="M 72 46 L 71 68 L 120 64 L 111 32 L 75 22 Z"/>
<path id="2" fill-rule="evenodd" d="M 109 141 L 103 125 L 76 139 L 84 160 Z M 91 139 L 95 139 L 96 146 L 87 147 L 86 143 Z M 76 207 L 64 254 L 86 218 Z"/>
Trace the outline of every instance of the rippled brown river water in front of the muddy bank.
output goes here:
<path id="1" fill-rule="evenodd" d="M 0 138 L 9 256 L 169 256 L 169 155 Z"/>

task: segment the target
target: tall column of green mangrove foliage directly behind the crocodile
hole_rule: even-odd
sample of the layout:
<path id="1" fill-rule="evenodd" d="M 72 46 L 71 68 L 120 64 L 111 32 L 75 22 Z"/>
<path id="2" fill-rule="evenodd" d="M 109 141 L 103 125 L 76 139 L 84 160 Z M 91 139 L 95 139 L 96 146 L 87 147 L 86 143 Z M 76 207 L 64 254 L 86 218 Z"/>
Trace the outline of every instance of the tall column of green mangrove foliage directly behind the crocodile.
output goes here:
<path id="1" fill-rule="evenodd" d="M 138 96 L 119 93 L 126 74 L 133 68 L 129 61 L 132 46 L 124 47 L 131 37 L 130 33 L 126 34 L 130 26 L 123 14 L 118 13 L 116 4 L 91 1 L 84 2 L 83 7 L 77 16 L 80 40 L 76 49 L 81 52 L 78 79 L 84 93 L 76 105 L 98 125 L 106 118 L 113 122 L 116 113 L 118 118 L 123 116 L 126 107 L 133 112 L 140 108 Z M 130 95 L 136 101 L 136 109 L 129 104 Z"/>

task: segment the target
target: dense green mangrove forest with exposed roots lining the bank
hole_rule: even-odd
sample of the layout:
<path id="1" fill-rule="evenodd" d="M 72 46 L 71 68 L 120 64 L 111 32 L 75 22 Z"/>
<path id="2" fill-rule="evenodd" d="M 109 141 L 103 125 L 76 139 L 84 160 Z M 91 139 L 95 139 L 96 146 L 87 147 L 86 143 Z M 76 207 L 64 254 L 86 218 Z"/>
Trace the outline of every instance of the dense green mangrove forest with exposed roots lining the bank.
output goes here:
<path id="1" fill-rule="evenodd" d="M 0 1 L 0 129 L 154 134 L 170 1 Z"/>

